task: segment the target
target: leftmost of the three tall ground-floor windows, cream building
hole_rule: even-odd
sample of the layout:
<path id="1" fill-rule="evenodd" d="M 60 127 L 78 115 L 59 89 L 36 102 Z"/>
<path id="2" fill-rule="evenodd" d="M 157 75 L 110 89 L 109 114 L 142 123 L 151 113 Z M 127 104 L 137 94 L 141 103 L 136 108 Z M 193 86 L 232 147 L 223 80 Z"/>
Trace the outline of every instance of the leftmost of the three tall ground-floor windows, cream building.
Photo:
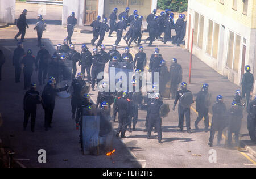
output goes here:
<path id="1" fill-rule="evenodd" d="M 204 33 L 204 16 L 195 12 L 193 44 L 202 48 Z"/>

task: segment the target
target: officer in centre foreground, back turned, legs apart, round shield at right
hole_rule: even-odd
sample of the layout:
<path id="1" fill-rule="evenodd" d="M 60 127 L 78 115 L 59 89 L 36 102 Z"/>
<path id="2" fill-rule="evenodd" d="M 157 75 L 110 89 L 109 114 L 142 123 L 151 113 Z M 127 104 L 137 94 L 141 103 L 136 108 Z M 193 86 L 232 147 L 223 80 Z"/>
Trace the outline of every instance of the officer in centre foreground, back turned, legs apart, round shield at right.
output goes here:
<path id="1" fill-rule="evenodd" d="M 151 131 L 155 125 L 158 132 L 158 142 L 162 143 L 162 118 L 160 117 L 160 107 L 163 101 L 160 99 L 160 94 L 156 93 L 148 103 L 148 131 L 147 139 L 151 137 Z"/>

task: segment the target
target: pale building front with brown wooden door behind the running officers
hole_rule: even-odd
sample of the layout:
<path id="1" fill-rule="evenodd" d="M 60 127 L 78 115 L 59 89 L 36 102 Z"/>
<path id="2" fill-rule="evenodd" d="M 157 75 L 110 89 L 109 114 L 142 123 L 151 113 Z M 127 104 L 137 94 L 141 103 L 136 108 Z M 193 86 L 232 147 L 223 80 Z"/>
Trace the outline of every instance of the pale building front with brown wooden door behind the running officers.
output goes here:
<path id="1" fill-rule="evenodd" d="M 90 24 L 97 15 L 101 18 L 109 18 L 113 8 L 118 8 L 118 14 L 126 7 L 130 7 L 129 14 L 138 10 L 138 14 L 146 16 L 157 7 L 157 0 L 63 0 L 63 25 L 67 24 L 67 18 L 71 12 L 75 12 L 78 25 Z"/>

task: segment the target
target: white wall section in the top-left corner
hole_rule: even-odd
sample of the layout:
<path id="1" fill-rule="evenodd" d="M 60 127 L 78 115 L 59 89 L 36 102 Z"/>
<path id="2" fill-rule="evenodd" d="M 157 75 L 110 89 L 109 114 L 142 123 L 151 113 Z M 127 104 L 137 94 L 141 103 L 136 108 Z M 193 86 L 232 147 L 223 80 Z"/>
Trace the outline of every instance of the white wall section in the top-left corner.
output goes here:
<path id="1" fill-rule="evenodd" d="M 0 0 L 0 23 L 14 23 L 15 0 Z"/>

